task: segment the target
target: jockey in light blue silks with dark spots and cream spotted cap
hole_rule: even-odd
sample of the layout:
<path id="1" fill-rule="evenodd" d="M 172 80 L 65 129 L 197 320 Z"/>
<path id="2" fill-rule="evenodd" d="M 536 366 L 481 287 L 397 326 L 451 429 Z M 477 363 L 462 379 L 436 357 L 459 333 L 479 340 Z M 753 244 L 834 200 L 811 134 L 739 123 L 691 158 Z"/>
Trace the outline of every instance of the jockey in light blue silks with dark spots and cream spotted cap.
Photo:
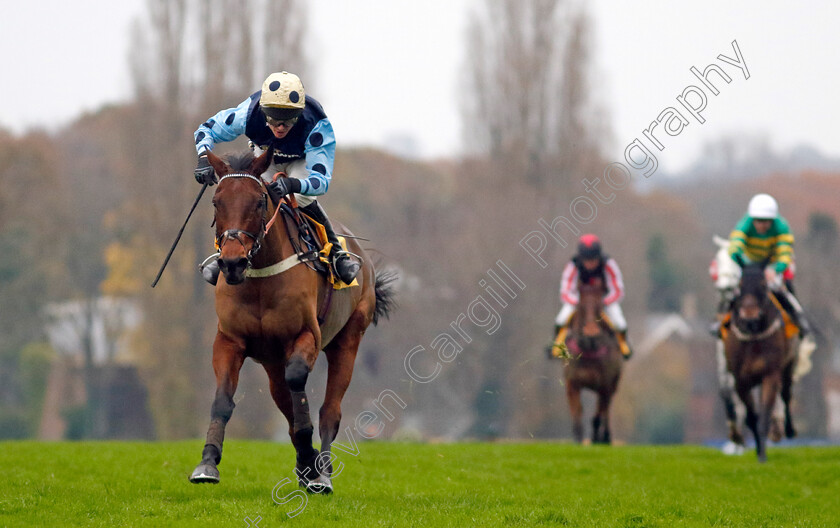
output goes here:
<path id="1" fill-rule="evenodd" d="M 262 175 L 271 180 L 273 174 L 285 172 L 288 178 L 266 184 L 275 203 L 295 193 L 302 211 L 324 225 L 332 243 L 330 260 L 336 275 L 346 284 L 353 282 L 359 263 L 350 259 L 341 248 L 326 212 L 315 199 L 327 192 L 332 179 L 335 158 L 335 135 L 321 104 L 307 96 L 297 75 L 282 71 L 272 73 L 263 82 L 262 90 L 253 93 L 236 108 L 222 110 L 195 131 L 198 183 L 213 185 L 217 178 L 207 159 L 207 152 L 218 142 L 233 141 L 245 134 L 255 154 L 274 147 L 274 159 Z M 216 284 L 219 277 L 218 258 L 202 268 L 205 280 Z"/>

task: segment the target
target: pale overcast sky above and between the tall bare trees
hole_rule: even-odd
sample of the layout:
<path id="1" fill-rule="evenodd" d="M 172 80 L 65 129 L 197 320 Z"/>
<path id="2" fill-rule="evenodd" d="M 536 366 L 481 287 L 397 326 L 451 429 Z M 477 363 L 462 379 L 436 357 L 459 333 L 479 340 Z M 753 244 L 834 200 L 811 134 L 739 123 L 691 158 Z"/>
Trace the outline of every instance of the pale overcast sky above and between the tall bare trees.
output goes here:
<path id="1" fill-rule="evenodd" d="M 60 125 L 131 96 L 129 24 L 143 13 L 143 0 L 0 2 L 0 126 L 23 132 Z M 426 157 L 460 152 L 464 28 L 478 0 L 307 4 L 318 96 L 341 143 L 413 141 Z M 723 135 L 765 137 L 778 149 L 805 143 L 840 156 L 840 74 L 832 60 L 840 49 L 840 4 L 587 5 L 593 89 L 612 123 L 608 154 L 615 160 L 665 108 L 678 106 L 684 88 L 699 84 L 689 68 L 713 62 L 732 82 L 716 83 L 720 94 L 709 97 L 704 124 L 690 120 L 679 136 L 664 137 L 663 168 L 684 167 L 705 141 Z M 748 80 L 717 60 L 735 57 L 733 40 Z"/>

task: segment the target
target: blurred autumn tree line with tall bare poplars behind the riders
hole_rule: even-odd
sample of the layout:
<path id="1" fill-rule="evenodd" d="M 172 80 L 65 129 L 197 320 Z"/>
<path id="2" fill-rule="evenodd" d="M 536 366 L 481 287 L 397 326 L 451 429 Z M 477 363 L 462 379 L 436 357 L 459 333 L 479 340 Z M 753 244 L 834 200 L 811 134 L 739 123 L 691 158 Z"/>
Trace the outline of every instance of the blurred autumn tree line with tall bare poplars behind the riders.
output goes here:
<path id="1" fill-rule="evenodd" d="M 132 33 L 131 103 L 82 116 L 54 135 L 0 134 L 6 249 L 0 252 L 0 436 L 36 432 L 55 354 L 45 343 L 44 306 L 92 303 L 102 295 L 142 307 L 131 353 L 149 389 L 157 436 L 194 438 L 206 427 L 216 318 L 212 289 L 197 264 L 213 250 L 209 199 L 196 210 L 161 282 L 148 287 L 199 190 L 192 133 L 258 89 L 268 72 L 299 73 L 316 97 L 318 83 L 302 44 L 307 13 L 300 0 L 149 0 L 147 7 Z M 566 247 L 549 238 L 545 269 L 520 240 L 539 229 L 540 219 L 568 216 L 571 200 L 586 195 L 582 180 L 600 176 L 612 161 L 608 120 L 592 96 L 598 79 L 591 71 L 591 31 L 578 3 L 480 2 L 466 34 L 468 154 L 462 159 L 418 162 L 342 148 L 342 127 L 350 125 L 334 123 L 336 176 L 321 200 L 331 216 L 371 239 L 367 246 L 381 265 L 401 275 L 399 310 L 362 343 L 345 398 L 347 425 L 389 389 L 406 408 L 386 424 L 386 435 L 416 428 L 448 438 L 569 436 L 562 365 L 548 363 L 543 348 L 553 337 L 559 276 L 576 236 L 563 233 Z M 242 148 L 237 140 L 219 151 Z M 810 183 L 822 192 L 836 189 L 834 180 Z M 630 335 L 640 339 L 646 316 L 679 310 L 686 293 L 694 294 L 700 314 L 713 313 L 712 230 L 720 229 L 716 221 L 734 225 L 757 184 L 741 182 L 727 193 L 633 184 L 583 227 L 598 233 L 618 260 Z M 784 214 L 789 195 L 779 190 Z M 804 200 L 799 209 L 805 203 L 836 211 Z M 813 216 L 810 225 L 807 215 L 790 219 L 794 229 L 809 226 L 797 239 L 803 240 L 800 295 L 815 311 L 831 313 L 836 299 L 819 281 L 837 271 L 836 258 L 823 258 L 836 256 L 836 212 Z M 478 295 L 489 298 L 482 281 L 498 260 L 525 284 L 507 306 L 494 305 L 498 330 L 488 334 L 465 322 L 471 342 L 461 341 L 463 350 L 440 376 L 428 384 L 409 379 L 408 351 L 424 346 L 418 365 L 433 366 L 430 343 L 453 333 L 451 323 Z M 708 353 L 713 350 L 709 338 Z M 628 363 L 614 409 L 617 437 L 679 441 L 687 364 L 684 352 L 667 350 Z M 319 360 L 310 383 L 315 401 L 323 397 L 324 370 Z M 264 378 L 246 364 L 230 434 L 268 438 L 285 429 Z M 808 390 L 813 395 L 818 387 Z M 804 414 L 817 434 L 824 410 L 811 407 Z"/>

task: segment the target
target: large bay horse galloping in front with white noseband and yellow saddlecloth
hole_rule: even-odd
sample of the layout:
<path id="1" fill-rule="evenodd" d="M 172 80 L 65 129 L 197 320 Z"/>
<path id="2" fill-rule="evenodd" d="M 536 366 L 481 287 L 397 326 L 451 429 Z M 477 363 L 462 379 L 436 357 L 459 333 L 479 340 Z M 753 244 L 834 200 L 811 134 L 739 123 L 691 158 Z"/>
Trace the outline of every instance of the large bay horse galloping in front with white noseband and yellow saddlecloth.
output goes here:
<path id="1" fill-rule="evenodd" d="M 245 359 L 251 358 L 268 374 L 271 396 L 289 423 L 299 484 L 310 492 L 330 493 L 330 447 L 338 434 L 341 400 L 365 330 L 387 317 L 393 307 L 390 283 L 395 276 L 378 274 L 350 236 L 347 249 L 362 260 L 358 286 L 331 292 L 332 285 L 322 273 L 299 262 L 293 244 L 297 226 L 282 212 L 274 222 L 278 205 L 269 198 L 260 176 L 272 156 L 273 150 L 268 149 L 258 158 L 245 152 L 225 162 L 208 153 L 219 177 L 213 207 L 224 280 L 220 277 L 215 295 L 216 395 L 201 462 L 190 481 L 219 482 L 217 465 L 222 458 L 225 426 L 233 413 L 239 371 Z M 344 226 L 338 227 L 338 231 L 349 233 Z M 278 271 L 284 267 L 287 269 Z M 325 305 L 328 311 L 323 313 Z M 328 373 L 319 412 L 319 452 L 312 445 L 314 428 L 306 380 L 320 350 L 326 354 Z"/>

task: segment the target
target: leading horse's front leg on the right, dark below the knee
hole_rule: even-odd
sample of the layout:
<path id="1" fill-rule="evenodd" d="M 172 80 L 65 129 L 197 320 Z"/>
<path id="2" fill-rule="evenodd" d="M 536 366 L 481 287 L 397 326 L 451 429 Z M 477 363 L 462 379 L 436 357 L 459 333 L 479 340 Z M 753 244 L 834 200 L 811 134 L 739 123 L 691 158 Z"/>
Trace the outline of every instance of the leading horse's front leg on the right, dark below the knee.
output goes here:
<path id="1" fill-rule="evenodd" d="M 297 464 L 295 472 L 298 481 L 310 491 L 310 482 L 318 477 L 316 462 L 318 450 L 312 447 L 312 418 L 309 413 L 309 398 L 306 396 L 306 380 L 315 365 L 318 357 L 318 349 L 315 344 L 315 336 L 310 330 L 304 330 L 295 339 L 292 353 L 286 361 L 285 380 L 289 387 L 292 400 L 292 443 L 297 451 Z"/>

